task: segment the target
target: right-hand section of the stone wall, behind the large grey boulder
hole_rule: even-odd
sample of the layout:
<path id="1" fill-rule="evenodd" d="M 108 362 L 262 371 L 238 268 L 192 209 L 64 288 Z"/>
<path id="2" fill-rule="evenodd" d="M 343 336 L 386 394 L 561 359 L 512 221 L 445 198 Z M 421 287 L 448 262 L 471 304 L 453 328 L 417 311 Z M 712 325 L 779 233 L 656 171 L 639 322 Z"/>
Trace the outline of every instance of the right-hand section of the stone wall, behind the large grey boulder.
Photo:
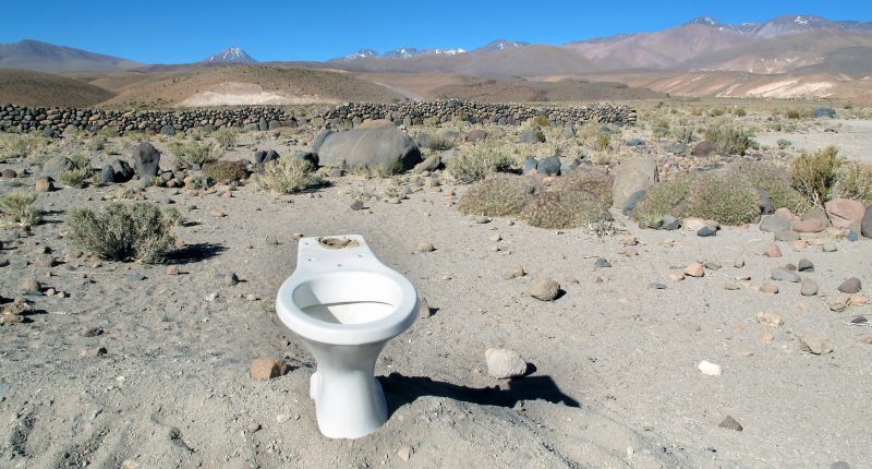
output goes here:
<path id="1" fill-rule="evenodd" d="M 420 125 L 455 119 L 498 125 L 520 124 L 536 116 L 545 116 L 552 125 L 578 125 L 584 122 L 632 125 L 635 110 L 629 106 L 590 105 L 583 107 L 543 107 L 491 104 L 449 99 L 401 104 L 351 103 L 337 106 L 322 117 L 327 127 L 349 128 L 367 120 L 387 119 L 396 124 Z"/>

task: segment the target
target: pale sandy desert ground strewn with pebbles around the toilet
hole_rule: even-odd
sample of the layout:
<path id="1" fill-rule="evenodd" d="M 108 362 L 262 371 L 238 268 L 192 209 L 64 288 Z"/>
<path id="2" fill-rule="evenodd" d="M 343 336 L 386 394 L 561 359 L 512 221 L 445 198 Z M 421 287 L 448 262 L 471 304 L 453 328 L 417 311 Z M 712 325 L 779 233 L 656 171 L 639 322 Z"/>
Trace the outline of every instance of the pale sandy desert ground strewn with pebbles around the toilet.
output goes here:
<path id="1" fill-rule="evenodd" d="M 581 130 L 567 137 L 547 129 L 547 142 L 532 145 L 516 144 L 529 125 L 484 130 L 497 147 L 520 148 L 521 156 L 581 152 L 603 171 L 650 156 L 662 179 L 671 176 L 667 167 L 742 158 L 676 156 L 665 149 L 670 137 L 653 135 L 657 119 L 669 116 L 700 125 L 717 119 L 691 109 L 712 105 L 638 106 L 640 123 L 611 127 L 609 148 L 593 149 Z M 786 166 L 802 151 L 836 144 L 849 160 L 872 163 L 868 115 L 776 117 L 785 123 L 776 130 L 766 106 L 727 115 L 753 129 L 756 158 Z M 481 128 L 443 127 L 457 132 L 461 154 L 473 146 L 463 134 Z M 311 124 L 245 132 L 221 159 L 310 149 L 318 131 Z M 130 160 L 138 143 L 113 136 L 101 149 L 82 149 L 90 139 L 65 136 L 46 152 L 84 152 L 99 168 Z M 191 135 L 145 139 L 164 153 L 160 166 L 171 167 L 172 142 Z M 629 145 L 632 139 L 644 144 Z M 790 144 L 778 145 L 783 140 Z M 666 165 L 678 160 L 688 166 Z M 27 158 L 9 158 L 3 169 L 17 177 L 0 180 L 2 193 L 33 191 L 43 177 Z M 872 466 L 872 330 L 864 321 L 872 306 L 861 301 L 872 285 L 872 240 L 825 230 L 776 241 L 755 223 L 701 237 L 642 228 L 618 208 L 610 209 L 613 230 L 602 236 L 464 215 L 455 203 L 470 185 L 441 169 L 327 180 L 281 195 L 251 180 L 143 189 L 136 179 L 56 183 L 38 193 L 34 205 L 45 220 L 29 230 L 2 229 L 0 298 L 3 306 L 27 305 L 21 315 L 27 322 L 0 327 L 0 467 Z M 99 209 L 119 199 L 178 208 L 179 242 L 164 262 L 98 258 L 71 242 L 72 208 Z M 356 201 L 363 208 L 352 207 Z M 274 303 L 294 270 L 301 236 L 346 233 L 362 234 L 431 309 L 388 342 L 376 365 L 388 422 L 353 441 L 318 432 L 308 398 L 315 362 Z M 435 249 L 422 252 L 420 243 Z M 771 244 L 783 256 L 764 255 Z M 818 294 L 771 279 L 774 269 L 803 258 L 814 265 L 801 274 L 820 286 Z M 681 274 L 697 262 L 704 276 Z M 523 276 L 504 278 L 518 266 Z M 851 277 L 862 282 L 859 297 L 833 311 L 845 298 L 837 288 Z M 37 291 L 23 290 L 28 279 L 39 282 Z M 541 279 L 559 282 L 555 300 L 531 296 Z M 765 292 L 765 285 L 778 292 Z M 816 333 L 832 352 L 803 350 L 802 338 Z M 489 348 L 517 351 L 526 374 L 492 376 Z M 254 380 L 250 364 L 262 357 L 278 358 L 287 373 Z M 718 373 L 701 372 L 702 361 L 719 365 Z M 740 426 L 725 424 L 728 417 Z"/>

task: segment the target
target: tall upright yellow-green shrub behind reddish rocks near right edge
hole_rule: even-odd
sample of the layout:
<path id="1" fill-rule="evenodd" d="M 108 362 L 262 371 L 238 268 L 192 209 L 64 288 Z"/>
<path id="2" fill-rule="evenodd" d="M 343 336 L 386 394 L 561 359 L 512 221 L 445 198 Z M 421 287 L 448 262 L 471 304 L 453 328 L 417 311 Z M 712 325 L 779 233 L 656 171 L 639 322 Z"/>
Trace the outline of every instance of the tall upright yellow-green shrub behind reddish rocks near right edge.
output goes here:
<path id="1" fill-rule="evenodd" d="M 818 206 L 832 196 L 843 158 L 831 145 L 814 153 L 802 154 L 790 163 L 790 182 L 806 200 Z"/>

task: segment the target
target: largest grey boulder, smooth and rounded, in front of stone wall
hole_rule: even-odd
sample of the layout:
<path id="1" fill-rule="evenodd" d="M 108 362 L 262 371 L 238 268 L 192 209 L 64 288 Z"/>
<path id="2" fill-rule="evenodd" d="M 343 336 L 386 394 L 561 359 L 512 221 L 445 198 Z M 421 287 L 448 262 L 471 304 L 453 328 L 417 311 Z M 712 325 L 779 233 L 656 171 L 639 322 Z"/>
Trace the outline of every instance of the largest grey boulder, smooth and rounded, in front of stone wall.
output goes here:
<path id="1" fill-rule="evenodd" d="M 407 170 L 421 163 L 421 152 L 405 133 L 393 125 L 322 132 L 314 143 L 323 166 L 382 167 Z"/>

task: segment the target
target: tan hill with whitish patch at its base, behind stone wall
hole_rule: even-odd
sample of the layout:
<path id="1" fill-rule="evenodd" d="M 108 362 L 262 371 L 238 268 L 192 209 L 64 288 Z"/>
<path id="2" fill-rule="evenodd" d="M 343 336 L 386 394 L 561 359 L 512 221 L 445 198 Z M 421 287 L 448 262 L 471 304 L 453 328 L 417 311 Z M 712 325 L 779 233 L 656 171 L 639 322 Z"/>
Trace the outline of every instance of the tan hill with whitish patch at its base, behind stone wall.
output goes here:
<path id="1" fill-rule="evenodd" d="M 90 76 L 118 94 L 109 105 L 225 106 L 391 101 L 400 96 L 349 73 L 275 65 L 177 68 Z"/>

